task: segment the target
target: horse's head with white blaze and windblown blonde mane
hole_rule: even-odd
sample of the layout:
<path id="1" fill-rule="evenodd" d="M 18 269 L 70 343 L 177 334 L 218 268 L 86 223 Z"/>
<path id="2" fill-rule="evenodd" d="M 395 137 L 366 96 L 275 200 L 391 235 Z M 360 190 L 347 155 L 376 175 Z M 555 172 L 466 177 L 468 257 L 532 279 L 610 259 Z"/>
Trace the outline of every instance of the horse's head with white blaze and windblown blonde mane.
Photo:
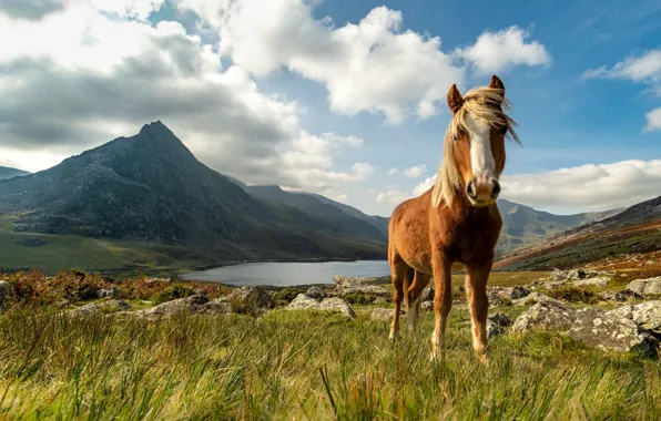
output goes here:
<path id="1" fill-rule="evenodd" d="M 502 111 L 508 106 L 505 84 L 491 76 L 488 88 L 478 88 L 461 96 L 457 85 L 448 92 L 452 121 L 445 138 L 443 196 L 461 188 L 470 204 L 482 207 L 496 203 L 500 193 L 498 178 L 505 167 L 505 137 L 518 141 L 513 121 Z M 436 201 L 437 203 L 440 199 Z"/>

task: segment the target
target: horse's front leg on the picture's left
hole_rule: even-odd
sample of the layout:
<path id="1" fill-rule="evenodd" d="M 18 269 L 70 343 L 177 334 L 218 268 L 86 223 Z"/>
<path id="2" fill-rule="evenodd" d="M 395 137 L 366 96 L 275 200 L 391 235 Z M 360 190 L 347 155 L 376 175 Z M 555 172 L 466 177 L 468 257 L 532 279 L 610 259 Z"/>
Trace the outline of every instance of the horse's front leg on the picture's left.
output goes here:
<path id="1" fill-rule="evenodd" d="M 434 315 L 435 325 L 434 333 L 431 333 L 431 359 L 437 358 L 440 351 L 445 349 L 446 345 L 446 328 L 448 315 L 452 307 L 452 290 L 451 290 L 451 266 L 452 261 L 443 253 L 437 251 L 433 256 L 434 269 Z"/>

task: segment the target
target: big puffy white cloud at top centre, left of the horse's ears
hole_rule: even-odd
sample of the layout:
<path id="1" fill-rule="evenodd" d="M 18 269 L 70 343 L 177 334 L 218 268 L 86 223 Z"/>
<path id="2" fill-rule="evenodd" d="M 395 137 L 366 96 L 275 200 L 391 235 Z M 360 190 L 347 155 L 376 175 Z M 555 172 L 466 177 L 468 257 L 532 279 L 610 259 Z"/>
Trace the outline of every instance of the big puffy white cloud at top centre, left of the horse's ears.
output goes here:
<path id="1" fill-rule="evenodd" d="M 330 109 L 384 114 L 400 123 L 429 117 L 464 70 L 439 38 L 403 30 L 401 12 L 373 9 L 358 24 L 315 20 L 304 0 L 180 0 L 220 32 L 221 50 L 256 75 L 281 66 L 323 83 Z M 213 7 L 212 4 L 215 4 Z"/>

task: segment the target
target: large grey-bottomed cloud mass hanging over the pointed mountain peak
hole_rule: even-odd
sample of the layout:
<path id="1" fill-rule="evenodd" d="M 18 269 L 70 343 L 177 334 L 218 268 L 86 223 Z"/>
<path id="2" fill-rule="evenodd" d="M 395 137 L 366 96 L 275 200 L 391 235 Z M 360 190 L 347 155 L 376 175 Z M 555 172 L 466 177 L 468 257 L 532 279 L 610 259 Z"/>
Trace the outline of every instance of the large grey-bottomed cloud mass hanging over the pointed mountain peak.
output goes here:
<path id="1" fill-rule="evenodd" d="M 248 183 L 319 193 L 368 177 L 333 170 L 356 136 L 305 131 L 295 102 L 260 91 L 177 22 L 143 21 L 162 1 L 71 1 L 40 20 L 0 9 L 0 153 L 42 167 L 162 120 L 205 164 Z M 126 19 L 118 19 L 126 18 Z M 27 167 L 27 165 L 17 165 Z M 41 170 L 35 167 L 29 170 Z"/>

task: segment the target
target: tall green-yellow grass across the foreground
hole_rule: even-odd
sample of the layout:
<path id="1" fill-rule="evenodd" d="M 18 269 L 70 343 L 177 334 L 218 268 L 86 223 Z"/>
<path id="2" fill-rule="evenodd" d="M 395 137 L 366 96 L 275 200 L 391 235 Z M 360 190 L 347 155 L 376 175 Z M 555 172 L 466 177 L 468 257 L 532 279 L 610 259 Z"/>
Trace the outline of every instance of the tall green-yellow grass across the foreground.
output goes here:
<path id="1" fill-rule="evenodd" d="M 433 316 L 390 343 L 360 315 L 157 322 L 16 309 L 0 315 L 0 418 L 122 420 L 658 419 L 661 363 L 561 336 L 504 336 L 488 364 L 452 311 L 430 362 Z M 516 310 L 511 310 L 516 311 Z"/>

